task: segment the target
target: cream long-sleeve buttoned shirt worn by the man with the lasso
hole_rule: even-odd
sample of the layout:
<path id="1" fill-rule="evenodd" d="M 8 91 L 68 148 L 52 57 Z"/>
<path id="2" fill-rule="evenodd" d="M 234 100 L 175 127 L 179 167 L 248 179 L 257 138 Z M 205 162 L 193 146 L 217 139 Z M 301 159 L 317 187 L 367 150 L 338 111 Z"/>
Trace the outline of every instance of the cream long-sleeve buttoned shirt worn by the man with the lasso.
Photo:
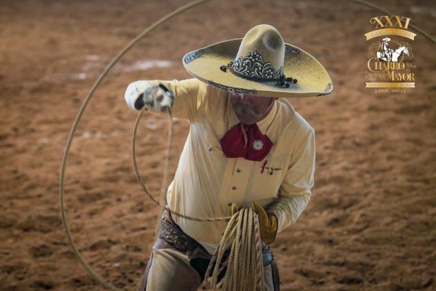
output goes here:
<path id="1" fill-rule="evenodd" d="M 229 216 L 230 205 L 260 202 L 278 218 L 278 233 L 296 222 L 314 186 L 314 129 L 284 98 L 257 123 L 273 148 L 262 161 L 227 158 L 220 139 L 239 123 L 227 91 L 197 79 L 136 81 L 125 98 L 131 109 L 144 82 L 161 82 L 174 92 L 174 117 L 190 122 L 174 180 L 167 191 L 170 209 L 195 217 Z M 174 215 L 175 216 L 175 215 Z M 225 222 L 194 222 L 174 217 L 189 236 L 212 252 L 226 229 Z"/>

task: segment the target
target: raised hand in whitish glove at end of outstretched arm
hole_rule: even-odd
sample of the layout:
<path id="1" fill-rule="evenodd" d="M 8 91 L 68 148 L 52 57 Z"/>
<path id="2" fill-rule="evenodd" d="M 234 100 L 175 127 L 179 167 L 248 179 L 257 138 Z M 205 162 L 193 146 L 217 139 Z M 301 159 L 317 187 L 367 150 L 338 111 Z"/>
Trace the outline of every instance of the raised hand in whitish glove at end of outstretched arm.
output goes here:
<path id="1" fill-rule="evenodd" d="M 125 100 L 131 109 L 140 110 L 144 106 L 153 112 L 171 108 L 174 93 L 163 84 L 154 85 L 148 81 L 132 82 L 126 89 Z"/>

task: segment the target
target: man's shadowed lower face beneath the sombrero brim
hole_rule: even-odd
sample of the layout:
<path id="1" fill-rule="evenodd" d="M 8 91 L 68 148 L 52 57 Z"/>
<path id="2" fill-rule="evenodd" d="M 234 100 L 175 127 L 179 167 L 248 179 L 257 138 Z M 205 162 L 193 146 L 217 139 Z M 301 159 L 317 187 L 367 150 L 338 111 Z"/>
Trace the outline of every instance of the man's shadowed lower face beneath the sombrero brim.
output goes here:
<path id="1" fill-rule="evenodd" d="M 278 98 L 230 92 L 233 110 L 239 121 L 246 125 L 261 121 L 270 112 L 276 99 Z"/>

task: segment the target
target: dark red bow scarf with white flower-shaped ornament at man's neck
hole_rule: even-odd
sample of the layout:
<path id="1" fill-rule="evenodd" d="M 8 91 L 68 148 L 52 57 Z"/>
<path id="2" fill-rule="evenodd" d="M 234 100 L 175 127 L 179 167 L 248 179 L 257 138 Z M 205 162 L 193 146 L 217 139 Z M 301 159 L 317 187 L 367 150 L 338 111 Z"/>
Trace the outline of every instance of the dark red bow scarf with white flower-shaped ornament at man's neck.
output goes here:
<path id="1" fill-rule="evenodd" d="M 249 161 L 262 161 L 272 147 L 273 142 L 262 134 L 257 124 L 238 123 L 221 139 L 221 148 L 228 158 L 243 157 Z"/>

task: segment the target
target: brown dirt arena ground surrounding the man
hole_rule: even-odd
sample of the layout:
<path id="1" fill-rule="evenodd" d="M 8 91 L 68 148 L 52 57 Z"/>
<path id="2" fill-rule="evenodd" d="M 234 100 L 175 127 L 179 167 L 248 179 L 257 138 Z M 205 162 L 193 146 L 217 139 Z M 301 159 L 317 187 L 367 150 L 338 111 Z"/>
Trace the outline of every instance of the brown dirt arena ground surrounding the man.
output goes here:
<path id="1" fill-rule="evenodd" d="M 75 258 L 60 218 L 62 152 L 105 65 L 146 26 L 188 1 L 0 1 L 0 289 L 104 290 Z M 436 35 L 433 1 L 381 6 Z M 282 290 L 436 290 L 436 46 L 413 43 L 417 87 L 365 88 L 369 19 L 350 1 L 210 1 L 154 30 L 111 71 L 85 112 L 66 170 L 66 211 L 84 258 L 134 290 L 158 210 L 131 165 L 129 82 L 190 77 L 182 56 L 256 24 L 314 55 L 334 92 L 291 103 L 316 130 L 309 207 L 273 243 Z M 158 193 L 165 116 L 147 114 L 138 163 Z M 174 124 L 173 175 L 189 124 Z M 432 263 L 433 262 L 433 263 Z M 203 289 L 207 289 L 206 284 Z"/>

